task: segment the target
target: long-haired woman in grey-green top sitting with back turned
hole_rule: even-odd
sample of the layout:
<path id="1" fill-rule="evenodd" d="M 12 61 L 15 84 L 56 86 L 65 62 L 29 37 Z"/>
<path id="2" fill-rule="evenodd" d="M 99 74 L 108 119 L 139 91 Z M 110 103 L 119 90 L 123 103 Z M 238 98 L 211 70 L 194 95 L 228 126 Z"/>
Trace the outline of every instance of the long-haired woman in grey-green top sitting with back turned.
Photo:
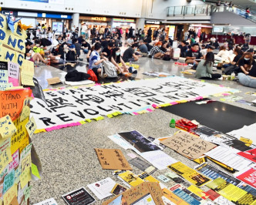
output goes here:
<path id="1" fill-rule="evenodd" d="M 199 62 L 196 71 L 197 79 L 219 79 L 221 74 L 213 72 L 214 66 L 214 53 L 207 52 L 205 59 Z"/>

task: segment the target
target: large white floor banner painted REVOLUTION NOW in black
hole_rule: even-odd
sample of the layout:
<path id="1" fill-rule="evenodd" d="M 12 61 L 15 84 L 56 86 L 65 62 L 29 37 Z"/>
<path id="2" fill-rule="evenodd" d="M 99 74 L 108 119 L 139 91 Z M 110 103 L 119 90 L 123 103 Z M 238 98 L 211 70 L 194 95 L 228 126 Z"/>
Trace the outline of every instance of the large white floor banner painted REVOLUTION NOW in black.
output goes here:
<path id="1" fill-rule="evenodd" d="M 38 129 L 50 131 L 51 127 L 59 129 L 66 124 L 106 116 L 116 111 L 133 113 L 152 105 L 206 97 L 229 90 L 177 76 L 106 86 L 66 88 L 44 92 L 46 103 L 41 99 L 32 100 L 31 114 Z"/>

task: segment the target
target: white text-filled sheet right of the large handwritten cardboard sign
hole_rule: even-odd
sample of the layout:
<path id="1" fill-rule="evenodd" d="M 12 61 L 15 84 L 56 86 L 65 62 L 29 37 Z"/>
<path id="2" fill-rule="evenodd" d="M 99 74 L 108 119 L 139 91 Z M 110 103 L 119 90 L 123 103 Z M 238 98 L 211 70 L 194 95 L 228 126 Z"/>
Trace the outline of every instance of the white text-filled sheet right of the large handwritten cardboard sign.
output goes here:
<path id="1" fill-rule="evenodd" d="M 247 166 L 251 164 L 250 160 L 246 160 L 241 156 L 238 156 L 236 153 L 239 150 L 227 148 L 224 146 L 217 146 L 213 150 L 204 153 L 206 156 L 210 156 L 214 160 L 217 160 L 221 163 L 226 164 L 234 168 L 235 170 L 241 171 L 244 170 Z"/>

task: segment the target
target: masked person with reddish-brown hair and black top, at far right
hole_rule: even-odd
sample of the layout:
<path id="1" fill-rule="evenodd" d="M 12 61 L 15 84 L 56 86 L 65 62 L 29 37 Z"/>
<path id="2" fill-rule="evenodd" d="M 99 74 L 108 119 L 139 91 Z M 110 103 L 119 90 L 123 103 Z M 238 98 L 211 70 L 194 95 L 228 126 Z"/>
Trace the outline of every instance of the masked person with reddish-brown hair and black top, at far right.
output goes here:
<path id="1" fill-rule="evenodd" d="M 249 70 L 255 65 L 255 61 L 252 58 L 250 52 L 245 52 L 241 59 L 238 60 L 237 66 L 240 68 L 239 72 L 243 72 L 245 75 L 249 74 Z"/>

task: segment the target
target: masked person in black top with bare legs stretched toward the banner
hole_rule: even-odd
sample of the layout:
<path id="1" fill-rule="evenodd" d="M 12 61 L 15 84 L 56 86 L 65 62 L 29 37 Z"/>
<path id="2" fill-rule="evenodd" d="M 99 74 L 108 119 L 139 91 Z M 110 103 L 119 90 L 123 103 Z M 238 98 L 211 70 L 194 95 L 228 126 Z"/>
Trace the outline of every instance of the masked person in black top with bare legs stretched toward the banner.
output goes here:
<path id="1" fill-rule="evenodd" d="M 125 62 L 123 61 L 120 55 L 120 48 L 114 48 L 112 50 L 112 54 L 109 56 L 109 61 L 116 66 L 116 70 L 119 71 L 121 74 L 127 76 L 129 73 L 129 66 L 126 66 Z M 122 63 L 122 66 L 119 64 Z"/>

